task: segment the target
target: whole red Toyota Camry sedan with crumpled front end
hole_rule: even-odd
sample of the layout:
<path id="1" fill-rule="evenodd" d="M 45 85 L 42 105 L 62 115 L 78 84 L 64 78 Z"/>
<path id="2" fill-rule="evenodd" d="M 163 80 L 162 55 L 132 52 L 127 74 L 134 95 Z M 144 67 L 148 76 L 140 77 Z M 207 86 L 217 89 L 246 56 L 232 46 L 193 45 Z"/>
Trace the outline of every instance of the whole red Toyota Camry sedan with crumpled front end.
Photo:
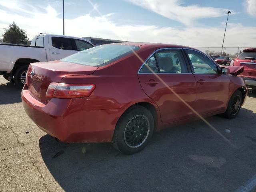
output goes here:
<path id="1" fill-rule="evenodd" d="M 22 90 L 28 116 L 63 142 L 112 142 L 142 150 L 155 130 L 198 117 L 237 116 L 247 88 L 241 66 L 170 44 L 106 44 L 32 63 Z"/>

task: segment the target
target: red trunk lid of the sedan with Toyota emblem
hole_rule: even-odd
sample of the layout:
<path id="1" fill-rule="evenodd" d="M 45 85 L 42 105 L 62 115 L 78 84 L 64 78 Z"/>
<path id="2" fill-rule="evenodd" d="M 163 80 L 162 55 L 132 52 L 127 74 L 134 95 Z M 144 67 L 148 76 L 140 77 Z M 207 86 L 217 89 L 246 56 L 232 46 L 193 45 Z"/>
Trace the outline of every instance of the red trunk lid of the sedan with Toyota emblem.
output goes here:
<path id="1" fill-rule="evenodd" d="M 50 99 L 46 98 L 46 91 L 51 82 L 61 82 L 65 76 L 89 75 L 97 68 L 63 61 L 32 63 L 28 68 L 26 83 L 30 94 L 47 104 Z"/>

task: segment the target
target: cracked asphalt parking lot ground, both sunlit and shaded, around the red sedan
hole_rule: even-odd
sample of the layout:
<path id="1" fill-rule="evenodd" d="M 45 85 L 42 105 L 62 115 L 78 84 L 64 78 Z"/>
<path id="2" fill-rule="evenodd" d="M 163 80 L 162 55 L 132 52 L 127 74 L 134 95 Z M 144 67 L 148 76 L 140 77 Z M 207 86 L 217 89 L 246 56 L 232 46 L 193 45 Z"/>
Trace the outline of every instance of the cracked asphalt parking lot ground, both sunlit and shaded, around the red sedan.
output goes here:
<path id="1" fill-rule="evenodd" d="M 0 192 L 233 192 L 256 175 L 256 90 L 237 118 L 207 118 L 235 147 L 196 121 L 155 133 L 131 156 L 58 142 L 28 118 L 20 91 L 0 76 Z"/>

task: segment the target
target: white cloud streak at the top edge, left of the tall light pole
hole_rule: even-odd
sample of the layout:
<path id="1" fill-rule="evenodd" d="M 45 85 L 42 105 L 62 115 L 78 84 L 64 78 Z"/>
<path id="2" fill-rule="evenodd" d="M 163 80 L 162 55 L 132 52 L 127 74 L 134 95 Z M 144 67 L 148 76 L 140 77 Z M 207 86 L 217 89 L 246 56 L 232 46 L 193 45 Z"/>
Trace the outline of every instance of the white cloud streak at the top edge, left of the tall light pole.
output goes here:
<path id="1" fill-rule="evenodd" d="M 194 20 L 200 18 L 220 17 L 225 15 L 226 9 L 200 7 L 198 5 L 184 6 L 181 0 L 127 0 L 133 4 L 151 10 L 166 18 L 192 26 Z M 252 0 L 253 1 L 253 0 Z"/>

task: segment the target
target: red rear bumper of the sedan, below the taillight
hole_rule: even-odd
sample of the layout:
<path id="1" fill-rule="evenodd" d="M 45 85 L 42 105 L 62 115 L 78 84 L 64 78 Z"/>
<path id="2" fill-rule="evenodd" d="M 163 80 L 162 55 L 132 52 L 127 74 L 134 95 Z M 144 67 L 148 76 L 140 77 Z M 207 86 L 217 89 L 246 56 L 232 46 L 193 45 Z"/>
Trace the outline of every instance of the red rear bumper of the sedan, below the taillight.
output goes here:
<path id="1" fill-rule="evenodd" d="M 79 98 L 53 98 L 45 105 L 31 96 L 25 87 L 22 90 L 24 110 L 44 132 L 63 142 L 112 140 L 122 109 L 82 110 Z"/>

